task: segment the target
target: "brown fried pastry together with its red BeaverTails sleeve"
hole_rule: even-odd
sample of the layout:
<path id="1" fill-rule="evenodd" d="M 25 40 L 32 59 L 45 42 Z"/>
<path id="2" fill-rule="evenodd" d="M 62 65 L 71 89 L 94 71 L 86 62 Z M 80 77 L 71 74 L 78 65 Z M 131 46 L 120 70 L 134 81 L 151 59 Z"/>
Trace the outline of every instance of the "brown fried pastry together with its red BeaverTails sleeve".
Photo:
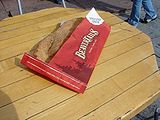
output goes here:
<path id="1" fill-rule="evenodd" d="M 110 26 L 92 10 L 68 20 L 41 40 L 21 63 L 56 83 L 83 93 L 110 33 Z"/>

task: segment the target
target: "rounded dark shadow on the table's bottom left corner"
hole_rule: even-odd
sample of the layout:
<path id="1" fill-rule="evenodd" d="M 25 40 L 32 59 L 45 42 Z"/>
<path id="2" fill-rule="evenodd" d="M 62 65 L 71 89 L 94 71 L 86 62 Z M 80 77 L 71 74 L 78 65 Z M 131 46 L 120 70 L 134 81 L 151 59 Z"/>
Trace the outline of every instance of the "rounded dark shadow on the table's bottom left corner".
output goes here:
<path id="1" fill-rule="evenodd" d="M 4 102 L 5 101 L 5 102 Z M 0 90 L 0 120 L 19 120 L 16 109 L 11 103 L 12 100 Z"/>

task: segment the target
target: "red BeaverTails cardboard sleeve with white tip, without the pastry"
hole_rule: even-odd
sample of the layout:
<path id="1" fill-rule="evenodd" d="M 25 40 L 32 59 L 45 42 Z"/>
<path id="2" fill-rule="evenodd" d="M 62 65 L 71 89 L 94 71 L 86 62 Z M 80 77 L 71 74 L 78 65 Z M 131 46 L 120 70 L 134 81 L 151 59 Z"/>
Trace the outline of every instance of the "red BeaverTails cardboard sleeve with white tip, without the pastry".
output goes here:
<path id="1" fill-rule="evenodd" d="M 109 33 L 110 26 L 92 8 L 49 63 L 28 53 L 24 54 L 21 63 L 71 90 L 83 93 Z"/>

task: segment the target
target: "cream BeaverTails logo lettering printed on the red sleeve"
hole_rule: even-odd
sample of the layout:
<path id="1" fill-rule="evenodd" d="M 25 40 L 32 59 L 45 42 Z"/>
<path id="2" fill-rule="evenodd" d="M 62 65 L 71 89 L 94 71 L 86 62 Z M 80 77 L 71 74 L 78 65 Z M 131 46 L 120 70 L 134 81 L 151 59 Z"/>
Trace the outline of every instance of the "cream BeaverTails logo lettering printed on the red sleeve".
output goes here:
<path id="1" fill-rule="evenodd" d="M 78 51 L 75 52 L 75 55 L 77 55 L 82 59 L 85 59 L 88 45 L 93 41 L 94 37 L 97 36 L 98 34 L 99 34 L 98 31 L 91 28 L 90 32 L 83 37 L 82 43 Z"/>

